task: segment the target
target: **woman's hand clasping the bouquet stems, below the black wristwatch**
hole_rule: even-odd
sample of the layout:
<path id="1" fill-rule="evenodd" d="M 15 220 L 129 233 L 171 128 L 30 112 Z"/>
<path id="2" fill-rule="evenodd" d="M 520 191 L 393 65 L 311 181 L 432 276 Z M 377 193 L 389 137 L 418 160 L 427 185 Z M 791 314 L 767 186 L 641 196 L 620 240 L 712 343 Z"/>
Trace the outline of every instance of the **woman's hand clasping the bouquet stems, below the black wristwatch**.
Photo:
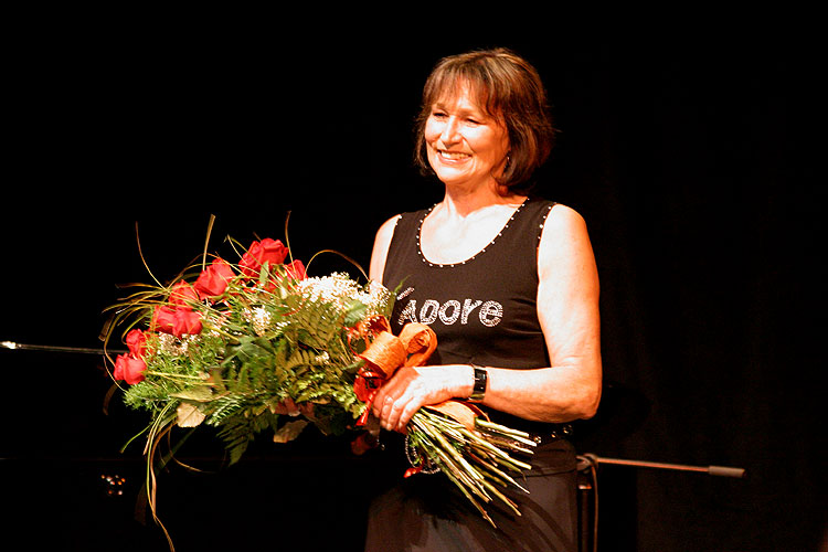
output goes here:
<path id="1" fill-rule="evenodd" d="M 378 391 L 372 413 L 384 429 L 405 433 L 422 406 L 468 396 L 473 386 L 469 365 L 403 367 Z"/>

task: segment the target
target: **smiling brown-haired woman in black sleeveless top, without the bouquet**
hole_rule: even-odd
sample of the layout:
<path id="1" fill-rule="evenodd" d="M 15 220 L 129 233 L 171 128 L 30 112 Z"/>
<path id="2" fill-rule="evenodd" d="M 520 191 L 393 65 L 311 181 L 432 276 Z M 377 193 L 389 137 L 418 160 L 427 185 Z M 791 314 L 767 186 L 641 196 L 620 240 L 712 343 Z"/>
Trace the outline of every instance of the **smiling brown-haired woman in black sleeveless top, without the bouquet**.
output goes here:
<path id="1" fill-rule="evenodd" d="M 564 425 L 601 395 L 598 278 L 582 217 L 528 195 L 553 142 L 535 70 L 506 50 L 440 61 L 428 77 L 417 160 L 443 201 L 379 230 L 370 276 L 400 295 L 392 323 L 428 323 L 437 350 L 403 368 L 372 413 L 404 433 L 423 405 L 479 403 L 540 443 L 522 516 L 490 511 L 497 529 L 442 476 L 415 476 L 374 500 L 367 550 L 576 550 L 575 455 Z M 496 507 L 491 507 L 496 510 Z"/>

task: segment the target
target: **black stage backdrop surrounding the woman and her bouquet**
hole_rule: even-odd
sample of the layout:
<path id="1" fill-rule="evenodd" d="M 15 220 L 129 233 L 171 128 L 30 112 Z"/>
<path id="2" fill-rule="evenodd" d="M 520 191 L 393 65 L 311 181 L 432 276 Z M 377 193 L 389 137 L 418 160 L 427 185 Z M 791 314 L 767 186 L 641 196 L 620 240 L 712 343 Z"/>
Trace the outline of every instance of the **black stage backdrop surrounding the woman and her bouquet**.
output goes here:
<path id="1" fill-rule="evenodd" d="M 288 40 L 284 21 L 269 33 L 180 25 L 75 32 L 53 18 L 13 41 L 0 340 L 99 347 L 116 284 L 149 280 L 136 226 L 160 279 L 200 255 L 211 214 L 211 251 L 226 235 L 284 240 L 290 211 L 297 257 L 335 248 L 367 267 L 385 219 L 440 195 L 410 160 L 432 64 L 510 46 L 540 70 L 561 130 L 538 191 L 585 216 L 601 270 L 605 399 L 580 453 L 749 473 L 602 464 L 601 550 L 818 549 L 825 188 L 807 31 L 558 20 L 531 40 Z M 0 349 L 0 370 L 3 534 L 163 550 L 140 516 L 141 446 L 119 452 L 144 420 L 117 396 L 104 412 L 100 359 Z M 375 466 L 347 443 L 263 438 L 230 469 L 210 436 L 187 454 L 209 473 L 160 475 L 178 550 L 359 549 Z"/>

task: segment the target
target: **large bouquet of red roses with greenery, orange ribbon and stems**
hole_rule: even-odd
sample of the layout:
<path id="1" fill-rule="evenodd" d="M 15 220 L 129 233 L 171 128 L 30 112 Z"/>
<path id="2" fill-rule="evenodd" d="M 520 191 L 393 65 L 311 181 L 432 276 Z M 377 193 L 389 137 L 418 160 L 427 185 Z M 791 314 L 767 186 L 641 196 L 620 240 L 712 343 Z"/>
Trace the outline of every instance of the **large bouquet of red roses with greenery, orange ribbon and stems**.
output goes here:
<path id="1" fill-rule="evenodd" d="M 152 464 L 173 427 L 215 427 L 231 464 L 265 431 L 285 443 L 314 424 L 328 435 L 360 432 L 359 444 L 376 389 L 436 346 L 422 325 L 391 335 L 394 295 L 379 283 L 308 277 L 278 240 L 232 243 L 237 263 L 208 264 L 205 254 L 171 285 L 139 286 L 113 307 L 127 351 L 110 359 L 112 375 L 126 382 L 127 405 L 150 415 L 141 435 L 153 516 Z M 480 414 L 460 401 L 421 408 L 407 427 L 405 476 L 442 471 L 491 521 L 481 502 L 493 498 L 520 513 L 500 489 L 522 488 L 510 474 L 530 466 L 510 452 L 534 443 Z"/>

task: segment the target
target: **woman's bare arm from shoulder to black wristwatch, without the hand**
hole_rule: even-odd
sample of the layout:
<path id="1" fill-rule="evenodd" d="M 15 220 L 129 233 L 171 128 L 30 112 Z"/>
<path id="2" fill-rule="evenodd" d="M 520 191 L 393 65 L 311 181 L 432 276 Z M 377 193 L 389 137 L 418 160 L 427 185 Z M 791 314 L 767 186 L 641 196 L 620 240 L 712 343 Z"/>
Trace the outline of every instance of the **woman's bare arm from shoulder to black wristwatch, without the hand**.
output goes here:
<path id="1" fill-rule="evenodd" d="M 489 370 L 485 404 L 545 422 L 588 418 L 601 399 L 598 276 L 583 219 L 552 209 L 538 252 L 538 317 L 551 367 Z"/>

